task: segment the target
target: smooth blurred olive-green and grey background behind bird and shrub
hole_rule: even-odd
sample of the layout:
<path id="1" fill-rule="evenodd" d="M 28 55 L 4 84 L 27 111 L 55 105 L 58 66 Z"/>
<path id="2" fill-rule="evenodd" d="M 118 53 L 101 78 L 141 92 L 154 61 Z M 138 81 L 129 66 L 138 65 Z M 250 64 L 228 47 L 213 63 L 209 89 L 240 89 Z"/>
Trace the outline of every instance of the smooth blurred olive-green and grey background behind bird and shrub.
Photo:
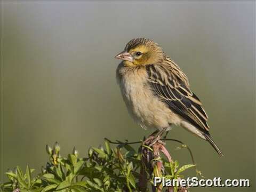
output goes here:
<path id="1" fill-rule="evenodd" d="M 191 191 L 255 191 L 254 1 L 1 1 L 1 181 L 16 165 L 39 172 L 46 143 L 85 156 L 104 137 L 152 132 L 132 121 L 115 79 L 114 56 L 135 37 L 154 39 L 185 71 L 225 157 L 181 127 L 169 137 L 190 146 L 206 178 L 252 185 Z M 177 146 L 167 143 L 173 158 L 190 163 Z"/>

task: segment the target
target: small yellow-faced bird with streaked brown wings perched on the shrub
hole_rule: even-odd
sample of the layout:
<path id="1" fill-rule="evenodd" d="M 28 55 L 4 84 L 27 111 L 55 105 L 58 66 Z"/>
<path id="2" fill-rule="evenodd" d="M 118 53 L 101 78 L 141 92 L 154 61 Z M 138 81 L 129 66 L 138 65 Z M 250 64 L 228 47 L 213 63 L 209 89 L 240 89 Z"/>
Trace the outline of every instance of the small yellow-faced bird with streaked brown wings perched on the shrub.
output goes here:
<path id="1" fill-rule="evenodd" d="M 151 135 L 157 139 L 173 125 L 181 126 L 223 156 L 211 138 L 208 116 L 190 90 L 188 77 L 161 46 L 149 38 L 134 38 L 115 58 L 122 60 L 116 79 L 135 122 L 143 129 L 155 129 Z"/>

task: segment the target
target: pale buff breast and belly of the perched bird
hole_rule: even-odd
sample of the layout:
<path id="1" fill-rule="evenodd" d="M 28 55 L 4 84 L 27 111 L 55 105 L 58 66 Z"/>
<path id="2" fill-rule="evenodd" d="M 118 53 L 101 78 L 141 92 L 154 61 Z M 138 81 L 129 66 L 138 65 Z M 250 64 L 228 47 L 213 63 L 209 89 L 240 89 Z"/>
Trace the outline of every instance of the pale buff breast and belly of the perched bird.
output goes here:
<path id="1" fill-rule="evenodd" d="M 172 124 L 180 124 L 178 115 L 150 90 L 143 74 L 130 74 L 117 80 L 130 115 L 143 129 L 170 130 Z"/>

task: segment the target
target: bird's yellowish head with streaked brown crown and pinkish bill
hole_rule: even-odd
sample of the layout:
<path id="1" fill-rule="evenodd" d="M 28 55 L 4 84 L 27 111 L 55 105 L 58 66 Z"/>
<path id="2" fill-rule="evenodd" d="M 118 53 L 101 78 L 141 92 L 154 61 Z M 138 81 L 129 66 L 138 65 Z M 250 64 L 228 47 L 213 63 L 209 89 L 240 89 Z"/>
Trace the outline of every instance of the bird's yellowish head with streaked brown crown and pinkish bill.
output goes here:
<path id="1" fill-rule="evenodd" d="M 117 54 L 116 59 L 124 60 L 125 66 L 140 66 L 161 62 L 164 59 L 162 48 L 151 39 L 135 38 Z"/>

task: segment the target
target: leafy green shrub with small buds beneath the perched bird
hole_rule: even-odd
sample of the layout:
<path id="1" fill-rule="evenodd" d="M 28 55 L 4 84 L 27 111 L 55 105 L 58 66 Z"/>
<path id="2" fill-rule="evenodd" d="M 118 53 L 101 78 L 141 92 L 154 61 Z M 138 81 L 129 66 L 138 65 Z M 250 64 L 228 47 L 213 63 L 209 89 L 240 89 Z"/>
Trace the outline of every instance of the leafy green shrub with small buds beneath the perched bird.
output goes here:
<path id="1" fill-rule="evenodd" d="M 157 158 L 145 162 L 145 153 L 155 154 L 156 145 L 153 148 L 142 146 L 137 152 L 127 142 L 117 143 L 116 147 L 111 148 L 109 140 L 105 139 L 105 148 L 91 147 L 88 157 L 81 158 L 76 148 L 67 157 L 61 157 L 59 143 L 55 142 L 53 148 L 46 146 L 49 162 L 42 166 L 41 173 L 33 177 L 34 169 L 27 166 L 23 173 L 17 166 L 5 173 L 9 181 L 1 184 L 1 191 L 131 192 L 150 191 L 150 188 L 164 191 L 162 187 L 153 187 L 154 177 L 182 178 L 183 171 L 195 166 L 183 165 L 179 168 L 178 161 L 162 158 L 159 154 Z M 163 146 L 158 149 L 166 153 Z M 178 191 L 178 187 L 174 187 L 174 191 Z"/>

